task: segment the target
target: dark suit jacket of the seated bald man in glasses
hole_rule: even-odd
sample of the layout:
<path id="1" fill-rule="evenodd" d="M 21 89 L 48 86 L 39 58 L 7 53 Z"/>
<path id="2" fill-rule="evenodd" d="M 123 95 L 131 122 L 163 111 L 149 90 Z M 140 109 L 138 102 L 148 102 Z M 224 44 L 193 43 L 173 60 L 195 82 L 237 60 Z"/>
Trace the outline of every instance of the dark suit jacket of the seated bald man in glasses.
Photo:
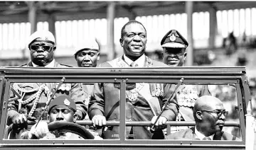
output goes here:
<path id="1" fill-rule="evenodd" d="M 169 134 L 166 136 L 166 139 L 197 139 L 195 134 L 195 127 L 191 127 L 189 129 L 185 129 L 180 132 L 175 132 L 173 134 Z M 234 137 L 232 134 L 227 132 L 218 132 L 214 135 L 213 140 L 239 140 L 238 137 Z"/>

